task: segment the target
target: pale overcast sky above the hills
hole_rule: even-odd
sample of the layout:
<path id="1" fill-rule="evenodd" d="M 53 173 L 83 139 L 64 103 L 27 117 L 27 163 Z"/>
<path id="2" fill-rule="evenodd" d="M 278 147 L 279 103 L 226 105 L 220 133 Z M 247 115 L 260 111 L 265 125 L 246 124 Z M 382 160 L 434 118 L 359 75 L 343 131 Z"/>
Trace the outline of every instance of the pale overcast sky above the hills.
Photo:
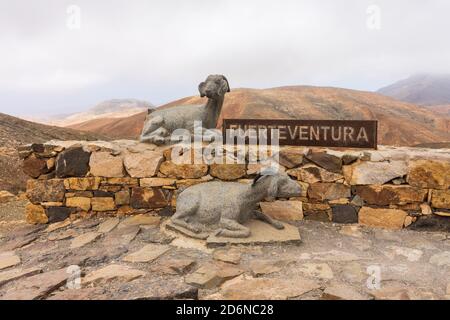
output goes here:
<path id="1" fill-rule="evenodd" d="M 0 0 L 0 112 L 154 104 L 230 85 L 377 90 L 450 73 L 448 0 Z"/>

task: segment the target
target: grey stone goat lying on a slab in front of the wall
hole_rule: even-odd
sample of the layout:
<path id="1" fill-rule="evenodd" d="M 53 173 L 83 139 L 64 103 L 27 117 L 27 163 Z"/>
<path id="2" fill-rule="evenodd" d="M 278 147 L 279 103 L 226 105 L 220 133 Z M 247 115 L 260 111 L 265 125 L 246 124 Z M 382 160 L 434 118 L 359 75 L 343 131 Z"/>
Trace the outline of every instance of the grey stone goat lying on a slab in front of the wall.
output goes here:
<path id="1" fill-rule="evenodd" d="M 239 182 L 205 182 L 187 188 L 177 198 L 171 218 L 174 229 L 187 229 L 195 237 L 216 236 L 247 238 L 250 229 L 243 225 L 251 218 L 260 219 L 283 229 L 282 223 L 256 210 L 265 198 L 290 198 L 301 193 L 300 186 L 286 174 L 258 175 L 252 185 Z"/>

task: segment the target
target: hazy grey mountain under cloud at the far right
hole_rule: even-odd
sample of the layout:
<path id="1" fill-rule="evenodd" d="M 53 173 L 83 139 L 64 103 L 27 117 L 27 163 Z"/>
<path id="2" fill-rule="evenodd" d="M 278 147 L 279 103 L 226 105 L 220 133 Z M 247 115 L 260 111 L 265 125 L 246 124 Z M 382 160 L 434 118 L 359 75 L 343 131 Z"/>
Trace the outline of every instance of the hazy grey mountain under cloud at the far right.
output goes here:
<path id="1" fill-rule="evenodd" d="M 418 74 L 381 88 L 378 93 L 422 106 L 450 104 L 450 75 Z"/>

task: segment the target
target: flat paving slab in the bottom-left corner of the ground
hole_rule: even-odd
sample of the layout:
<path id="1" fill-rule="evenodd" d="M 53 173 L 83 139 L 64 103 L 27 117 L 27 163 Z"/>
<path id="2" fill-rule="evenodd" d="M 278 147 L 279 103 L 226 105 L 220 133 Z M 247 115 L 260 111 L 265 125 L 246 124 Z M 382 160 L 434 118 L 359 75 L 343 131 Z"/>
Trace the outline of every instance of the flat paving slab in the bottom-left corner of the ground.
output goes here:
<path id="1" fill-rule="evenodd" d="M 67 269 L 40 273 L 21 280 L 4 294 L 3 300 L 39 300 L 63 286 L 69 277 Z"/>

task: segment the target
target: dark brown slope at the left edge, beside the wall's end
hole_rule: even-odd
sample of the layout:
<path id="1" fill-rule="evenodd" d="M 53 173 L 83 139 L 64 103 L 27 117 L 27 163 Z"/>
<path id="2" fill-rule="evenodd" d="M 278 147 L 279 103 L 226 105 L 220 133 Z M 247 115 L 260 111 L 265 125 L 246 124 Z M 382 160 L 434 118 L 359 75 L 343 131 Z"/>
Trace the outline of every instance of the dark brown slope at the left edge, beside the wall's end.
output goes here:
<path id="1" fill-rule="evenodd" d="M 18 192 L 26 176 L 16 147 L 20 144 L 58 140 L 97 140 L 107 136 L 34 123 L 0 113 L 0 190 Z"/>

